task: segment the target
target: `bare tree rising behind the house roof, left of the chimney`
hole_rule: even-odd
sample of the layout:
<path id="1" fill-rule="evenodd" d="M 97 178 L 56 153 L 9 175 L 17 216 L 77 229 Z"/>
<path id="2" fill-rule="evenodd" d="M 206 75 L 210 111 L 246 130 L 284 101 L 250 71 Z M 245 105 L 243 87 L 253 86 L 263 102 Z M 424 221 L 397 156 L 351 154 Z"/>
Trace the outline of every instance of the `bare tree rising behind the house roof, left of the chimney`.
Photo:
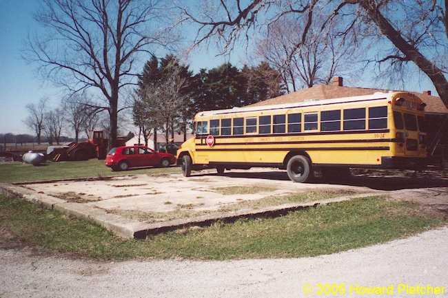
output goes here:
<path id="1" fill-rule="evenodd" d="M 281 73 L 288 92 L 316 83 L 328 84 L 337 74 L 342 75 L 343 69 L 346 77 L 354 72 L 356 56 L 360 54 L 358 51 L 354 55 L 359 49 L 354 43 L 341 43 L 335 28 L 322 34 L 320 28 L 312 25 L 305 43 L 296 47 L 301 39 L 297 32 L 303 25 L 292 17 L 278 19 L 256 43 L 256 54 Z"/>

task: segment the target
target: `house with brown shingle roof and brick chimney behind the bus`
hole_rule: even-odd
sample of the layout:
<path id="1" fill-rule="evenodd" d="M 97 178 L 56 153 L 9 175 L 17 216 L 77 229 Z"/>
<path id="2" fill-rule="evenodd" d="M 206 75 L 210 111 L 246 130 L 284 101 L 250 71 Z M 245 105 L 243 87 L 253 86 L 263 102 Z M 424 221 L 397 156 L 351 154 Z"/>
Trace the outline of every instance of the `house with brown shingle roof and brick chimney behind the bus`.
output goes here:
<path id="1" fill-rule="evenodd" d="M 343 78 L 336 76 L 332 80 L 332 85 L 316 85 L 290 94 L 269 98 L 259 103 L 247 105 L 247 107 L 280 105 L 285 103 L 298 103 L 305 100 L 343 98 L 369 95 L 374 94 L 375 92 L 387 93 L 396 91 L 403 90 L 346 87 L 343 85 Z M 445 156 L 448 156 L 448 109 L 440 97 L 431 95 L 431 91 L 411 93 L 415 94 L 426 103 L 425 118 L 427 122 L 429 156 L 435 156 L 436 162 L 441 161 L 442 164 L 444 164 Z"/>

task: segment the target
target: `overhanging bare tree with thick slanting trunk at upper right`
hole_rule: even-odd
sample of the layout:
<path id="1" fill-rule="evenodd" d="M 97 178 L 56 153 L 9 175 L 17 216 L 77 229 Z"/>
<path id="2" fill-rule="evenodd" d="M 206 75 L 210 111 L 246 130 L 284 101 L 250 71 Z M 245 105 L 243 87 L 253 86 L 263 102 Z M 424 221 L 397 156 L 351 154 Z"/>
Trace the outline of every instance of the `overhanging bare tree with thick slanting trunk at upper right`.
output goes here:
<path id="1" fill-rule="evenodd" d="M 378 51 L 375 63 L 414 63 L 448 107 L 447 1 L 252 0 L 244 6 L 240 1 L 214 3 L 209 5 L 213 10 L 181 8 L 186 20 L 199 25 L 196 44 L 216 37 L 223 51 L 232 50 L 241 36 L 249 40 L 254 28 L 290 14 L 304 24 L 298 32 L 300 39 L 292 45 L 294 49 L 305 45 L 314 22 L 318 22 L 323 34 L 340 25 L 339 36 L 352 32 L 357 37 L 374 37 L 382 47 L 389 47 L 389 53 Z"/>

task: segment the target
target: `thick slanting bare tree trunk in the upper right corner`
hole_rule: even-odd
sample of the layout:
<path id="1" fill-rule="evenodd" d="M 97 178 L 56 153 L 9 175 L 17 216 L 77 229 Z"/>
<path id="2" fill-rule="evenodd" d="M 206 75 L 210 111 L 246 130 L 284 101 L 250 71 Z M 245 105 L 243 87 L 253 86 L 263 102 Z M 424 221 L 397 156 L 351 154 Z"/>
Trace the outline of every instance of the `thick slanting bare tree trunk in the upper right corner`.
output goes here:
<path id="1" fill-rule="evenodd" d="M 418 68 L 425 72 L 431 82 L 436 87 L 437 93 L 442 98 L 445 106 L 448 107 L 448 81 L 443 75 L 442 71 L 434 64 L 431 63 L 425 56 L 423 56 L 414 45 L 411 45 L 403 39 L 401 33 L 395 30 L 395 28 L 387 21 L 383 14 L 380 13 L 376 6 L 376 0 L 361 0 L 360 6 L 364 8 L 369 17 L 376 23 L 384 36 L 393 43 L 398 50 L 405 54 L 406 61 L 413 61 Z"/>

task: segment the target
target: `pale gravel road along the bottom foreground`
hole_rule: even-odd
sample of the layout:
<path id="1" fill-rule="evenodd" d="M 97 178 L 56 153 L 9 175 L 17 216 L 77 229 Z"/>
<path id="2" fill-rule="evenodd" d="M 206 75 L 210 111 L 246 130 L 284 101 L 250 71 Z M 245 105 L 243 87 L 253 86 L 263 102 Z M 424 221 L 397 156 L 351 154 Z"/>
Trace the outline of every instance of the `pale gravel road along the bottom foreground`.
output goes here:
<path id="1" fill-rule="evenodd" d="M 305 295 L 303 286 L 312 286 Z M 0 297 L 326 297 L 317 284 L 394 287 L 384 297 L 448 297 L 448 226 L 333 255 L 224 262 L 96 262 L 28 249 L 0 250 Z M 398 293 L 400 284 L 445 286 L 443 295 Z M 334 297 L 334 295 L 330 296 Z"/>

